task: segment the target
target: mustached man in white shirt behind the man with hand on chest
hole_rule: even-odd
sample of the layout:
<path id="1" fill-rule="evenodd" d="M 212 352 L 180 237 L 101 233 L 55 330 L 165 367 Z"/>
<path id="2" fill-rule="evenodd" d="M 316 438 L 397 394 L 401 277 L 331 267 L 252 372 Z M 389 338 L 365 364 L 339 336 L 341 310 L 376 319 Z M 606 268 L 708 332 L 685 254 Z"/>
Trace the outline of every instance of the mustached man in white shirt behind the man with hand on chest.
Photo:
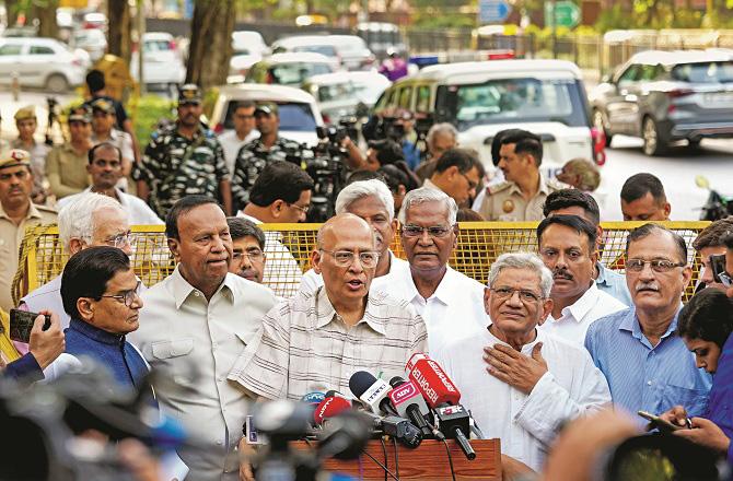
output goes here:
<path id="1" fill-rule="evenodd" d="M 552 215 L 537 226 L 539 255 L 552 272 L 552 312 L 539 329 L 575 345 L 583 345 L 592 322 L 626 309 L 593 280 L 596 232 L 578 215 Z"/>

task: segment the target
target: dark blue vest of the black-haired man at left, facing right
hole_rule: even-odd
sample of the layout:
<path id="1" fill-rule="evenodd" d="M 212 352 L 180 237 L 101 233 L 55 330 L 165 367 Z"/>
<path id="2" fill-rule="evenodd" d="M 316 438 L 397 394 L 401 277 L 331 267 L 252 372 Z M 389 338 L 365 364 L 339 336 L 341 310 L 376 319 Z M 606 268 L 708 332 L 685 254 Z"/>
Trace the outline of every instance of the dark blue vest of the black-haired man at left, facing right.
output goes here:
<path id="1" fill-rule="evenodd" d="M 115 380 L 126 388 L 137 389 L 148 374 L 148 364 L 125 340 L 125 336 L 98 329 L 79 319 L 71 319 L 66 333 L 66 352 L 77 357 L 88 356 L 109 369 Z"/>

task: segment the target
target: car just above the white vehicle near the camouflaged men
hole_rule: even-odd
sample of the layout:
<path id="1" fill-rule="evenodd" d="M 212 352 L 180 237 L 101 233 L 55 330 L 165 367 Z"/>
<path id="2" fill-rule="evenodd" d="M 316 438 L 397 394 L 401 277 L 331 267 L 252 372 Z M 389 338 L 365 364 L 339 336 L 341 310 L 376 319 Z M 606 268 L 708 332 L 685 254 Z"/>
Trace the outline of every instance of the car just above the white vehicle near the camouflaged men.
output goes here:
<path id="1" fill-rule="evenodd" d="M 274 54 L 252 66 L 244 81 L 300 86 L 313 75 L 335 71 L 336 63 L 321 54 Z"/>

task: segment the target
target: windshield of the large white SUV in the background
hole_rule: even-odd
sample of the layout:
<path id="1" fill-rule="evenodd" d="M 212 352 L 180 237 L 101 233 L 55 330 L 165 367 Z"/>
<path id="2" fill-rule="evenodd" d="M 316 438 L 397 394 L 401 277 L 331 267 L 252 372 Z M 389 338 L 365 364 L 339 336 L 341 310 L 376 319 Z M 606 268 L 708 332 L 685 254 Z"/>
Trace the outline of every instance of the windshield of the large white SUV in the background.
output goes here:
<path id="1" fill-rule="evenodd" d="M 441 121 L 463 131 L 481 124 L 556 121 L 589 124 L 580 83 L 573 79 L 500 79 L 449 85 L 438 92 Z"/>

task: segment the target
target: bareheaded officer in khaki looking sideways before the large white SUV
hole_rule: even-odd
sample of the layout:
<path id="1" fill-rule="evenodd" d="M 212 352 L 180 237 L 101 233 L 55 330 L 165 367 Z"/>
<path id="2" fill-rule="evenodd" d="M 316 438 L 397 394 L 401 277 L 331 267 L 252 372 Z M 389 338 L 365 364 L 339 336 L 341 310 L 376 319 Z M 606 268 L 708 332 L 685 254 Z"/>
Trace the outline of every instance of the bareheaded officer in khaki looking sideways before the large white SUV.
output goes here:
<path id="1" fill-rule="evenodd" d="M 501 137 L 500 137 L 501 136 Z M 497 134 L 499 168 L 505 181 L 488 186 L 477 211 L 487 221 L 522 222 L 544 219 L 543 206 L 550 192 L 569 186 L 539 173 L 543 143 L 538 136 L 520 129 Z"/>

